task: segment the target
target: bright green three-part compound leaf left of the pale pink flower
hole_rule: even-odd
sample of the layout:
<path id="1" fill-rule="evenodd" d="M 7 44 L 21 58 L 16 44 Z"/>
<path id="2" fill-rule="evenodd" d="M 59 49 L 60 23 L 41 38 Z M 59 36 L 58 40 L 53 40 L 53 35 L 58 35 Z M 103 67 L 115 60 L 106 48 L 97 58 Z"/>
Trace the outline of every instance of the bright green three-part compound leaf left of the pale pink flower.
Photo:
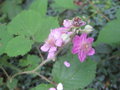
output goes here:
<path id="1" fill-rule="evenodd" d="M 56 18 L 43 17 L 32 10 L 21 12 L 7 26 L 8 32 L 11 35 L 19 35 L 20 37 L 13 38 L 9 41 L 6 47 L 6 53 L 9 56 L 26 54 L 30 51 L 33 42 L 44 41 L 50 29 L 57 26 L 58 22 Z"/>

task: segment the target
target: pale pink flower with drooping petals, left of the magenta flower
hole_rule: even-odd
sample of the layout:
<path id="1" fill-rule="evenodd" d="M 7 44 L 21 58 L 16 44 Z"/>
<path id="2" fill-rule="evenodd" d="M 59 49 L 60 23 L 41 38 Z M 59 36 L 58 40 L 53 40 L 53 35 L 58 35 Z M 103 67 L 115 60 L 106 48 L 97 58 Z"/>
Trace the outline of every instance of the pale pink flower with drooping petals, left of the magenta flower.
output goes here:
<path id="1" fill-rule="evenodd" d="M 65 40 L 63 39 L 62 35 L 71 33 L 68 33 L 67 28 L 60 27 L 51 30 L 48 39 L 45 41 L 45 44 L 41 47 L 41 50 L 44 52 L 48 52 L 47 59 L 52 59 L 55 57 L 55 52 L 57 51 L 58 47 L 61 47 Z"/>

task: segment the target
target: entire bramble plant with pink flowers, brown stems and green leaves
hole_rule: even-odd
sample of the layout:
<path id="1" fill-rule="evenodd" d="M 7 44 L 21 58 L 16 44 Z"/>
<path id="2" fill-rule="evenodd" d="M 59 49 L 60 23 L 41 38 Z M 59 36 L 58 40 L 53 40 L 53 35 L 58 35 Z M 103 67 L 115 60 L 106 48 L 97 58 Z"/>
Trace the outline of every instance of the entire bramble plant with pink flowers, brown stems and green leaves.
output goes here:
<path id="1" fill-rule="evenodd" d="M 78 14 L 71 19 L 61 19 L 60 15 L 50 16 L 47 12 L 48 0 L 35 0 L 25 10 L 19 6 L 23 1 L 6 0 L 2 3 L 1 12 L 5 16 L 0 21 L 5 22 L 6 18 L 11 21 L 0 24 L 0 69 L 6 75 L 0 78 L 0 86 L 6 85 L 9 90 L 17 90 L 19 82 L 24 81 L 21 77 L 28 75 L 33 79 L 41 78 L 40 82 L 35 81 L 37 84 L 29 85 L 30 90 L 85 89 L 96 76 L 97 63 L 91 58 L 97 53 L 96 46 L 100 43 L 114 46 L 120 41 L 120 11 L 117 12 L 117 20 L 108 23 L 96 39 L 92 36 L 97 31 L 93 27 L 100 26 L 102 21 L 93 24 L 90 18 L 95 21 L 99 13 L 100 19 L 104 18 L 106 23 L 110 21 L 96 8 L 95 4 L 103 1 L 54 0 L 51 6 L 59 13 L 86 7 L 90 3 L 91 16 L 81 17 Z M 7 5 L 13 5 L 16 9 L 9 10 Z M 110 5 L 108 0 L 105 8 L 110 8 Z M 30 82 L 34 83 L 32 80 Z"/>

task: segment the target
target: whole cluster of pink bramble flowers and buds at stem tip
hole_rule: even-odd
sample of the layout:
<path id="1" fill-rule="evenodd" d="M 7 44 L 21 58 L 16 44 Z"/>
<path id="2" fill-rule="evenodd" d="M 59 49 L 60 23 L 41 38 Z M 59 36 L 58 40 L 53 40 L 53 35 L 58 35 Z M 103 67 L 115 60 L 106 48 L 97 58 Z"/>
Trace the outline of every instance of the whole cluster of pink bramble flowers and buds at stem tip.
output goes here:
<path id="1" fill-rule="evenodd" d="M 81 26 L 84 26 L 81 29 Z M 78 54 L 78 58 L 83 62 L 87 56 L 93 55 L 95 50 L 92 48 L 93 38 L 87 38 L 87 34 L 93 31 L 92 26 L 86 25 L 86 22 L 82 21 L 79 17 L 75 17 L 72 20 L 64 20 L 63 27 L 52 29 L 48 39 L 45 41 L 41 50 L 48 52 L 47 59 L 54 59 L 58 48 L 69 42 L 72 38 L 70 37 L 74 31 L 80 31 L 81 35 L 75 35 L 73 38 L 72 53 Z M 68 64 L 65 62 L 65 65 Z"/>

